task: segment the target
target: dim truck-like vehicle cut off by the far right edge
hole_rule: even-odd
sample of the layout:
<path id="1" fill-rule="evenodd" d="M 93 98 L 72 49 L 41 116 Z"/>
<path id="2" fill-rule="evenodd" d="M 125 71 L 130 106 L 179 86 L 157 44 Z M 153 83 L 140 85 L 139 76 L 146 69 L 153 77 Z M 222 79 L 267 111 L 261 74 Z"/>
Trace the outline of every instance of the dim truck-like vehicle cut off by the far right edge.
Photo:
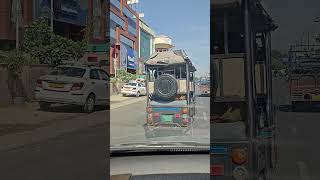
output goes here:
<path id="1" fill-rule="evenodd" d="M 306 47 L 308 46 L 296 45 L 289 50 L 289 88 L 293 110 L 320 103 L 319 52 Z M 315 47 L 318 46 L 313 46 Z"/>

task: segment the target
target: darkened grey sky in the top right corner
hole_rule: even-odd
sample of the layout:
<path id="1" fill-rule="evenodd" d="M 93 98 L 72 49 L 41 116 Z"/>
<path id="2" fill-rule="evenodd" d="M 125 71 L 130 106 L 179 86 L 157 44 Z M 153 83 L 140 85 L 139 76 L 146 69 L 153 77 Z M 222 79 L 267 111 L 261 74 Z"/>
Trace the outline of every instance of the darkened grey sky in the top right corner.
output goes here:
<path id="1" fill-rule="evenodd" d="M 319 0 L 263 0 L 279 28 L 272 34 L 272 47 L 280 51 L 288 51 L 290 44 L 311 39 L 320 32 L 320 24 L 313 19 L 320 16 Z"/>

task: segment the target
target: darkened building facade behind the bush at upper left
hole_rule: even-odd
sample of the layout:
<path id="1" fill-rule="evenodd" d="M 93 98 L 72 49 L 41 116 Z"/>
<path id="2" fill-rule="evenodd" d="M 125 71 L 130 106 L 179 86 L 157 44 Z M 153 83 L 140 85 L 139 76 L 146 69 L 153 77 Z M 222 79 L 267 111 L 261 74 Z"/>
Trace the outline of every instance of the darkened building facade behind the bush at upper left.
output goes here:
<path id="1" fill-rule="evenodd" d="M 0 1 L 0 49 L 15 48 L 15 24 L 11 21 L 13 0 Z M 50 17 L 51 0 L 21 1 L 23 26 L 39 17 Z M 55 34 L 73 39 L 82 40 L 84 29 L 92 29 L 85 61 L 103 61 L 109 64 L 109 3 L 108 0 L 53 0 L 53 30 Z M 107 48 L 108 47 L 108 48 Z M 108 68 L 109 70 L 109 68 Z"/>

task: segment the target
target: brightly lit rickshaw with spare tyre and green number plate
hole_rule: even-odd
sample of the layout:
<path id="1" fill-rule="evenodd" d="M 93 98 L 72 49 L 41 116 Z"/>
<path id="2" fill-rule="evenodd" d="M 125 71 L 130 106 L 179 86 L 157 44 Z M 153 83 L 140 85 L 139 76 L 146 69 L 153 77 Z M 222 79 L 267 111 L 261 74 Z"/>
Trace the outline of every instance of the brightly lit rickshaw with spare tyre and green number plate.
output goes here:
<path id="1" fill-rule="evenodd" d="M 191 61 L 183 51 L 155 53 L 147 62 L 146 137 L 192 132 L 195 96 Z"/>

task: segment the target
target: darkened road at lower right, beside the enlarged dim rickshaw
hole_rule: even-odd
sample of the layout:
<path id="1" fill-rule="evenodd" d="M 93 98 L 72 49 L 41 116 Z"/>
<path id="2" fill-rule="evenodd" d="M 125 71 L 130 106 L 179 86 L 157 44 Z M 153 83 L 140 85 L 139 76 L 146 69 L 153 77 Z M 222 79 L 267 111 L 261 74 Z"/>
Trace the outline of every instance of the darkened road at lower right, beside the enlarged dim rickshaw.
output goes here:
<path id="1" fill-rule="evenodd" d="M 279 105 L 279 111 L 278 168 L 273 179 L 320 179 L 320 110 L 292 112 L 288 83 L 281 78 L 274 80 L 274 92 L 274 100 Z"/>

